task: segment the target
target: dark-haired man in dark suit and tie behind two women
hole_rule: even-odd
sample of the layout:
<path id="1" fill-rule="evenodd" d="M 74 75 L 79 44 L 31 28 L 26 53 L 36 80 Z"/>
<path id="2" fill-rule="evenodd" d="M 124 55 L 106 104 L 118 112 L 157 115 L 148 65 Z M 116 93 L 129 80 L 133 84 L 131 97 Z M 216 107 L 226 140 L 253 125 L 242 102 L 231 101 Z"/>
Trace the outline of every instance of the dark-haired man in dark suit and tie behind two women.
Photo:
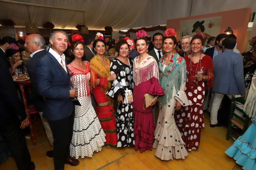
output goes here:
<path id="1" fill-rule="evenodd" d="M 153 35 L 153 45 L 154 48 L 148 52 L 150 56 L 153 56 L 157 63 L 159 63 L 160 58 L 163 56 L 162 45 L 163 45 L 164 35 L 157 32 Z"/>

